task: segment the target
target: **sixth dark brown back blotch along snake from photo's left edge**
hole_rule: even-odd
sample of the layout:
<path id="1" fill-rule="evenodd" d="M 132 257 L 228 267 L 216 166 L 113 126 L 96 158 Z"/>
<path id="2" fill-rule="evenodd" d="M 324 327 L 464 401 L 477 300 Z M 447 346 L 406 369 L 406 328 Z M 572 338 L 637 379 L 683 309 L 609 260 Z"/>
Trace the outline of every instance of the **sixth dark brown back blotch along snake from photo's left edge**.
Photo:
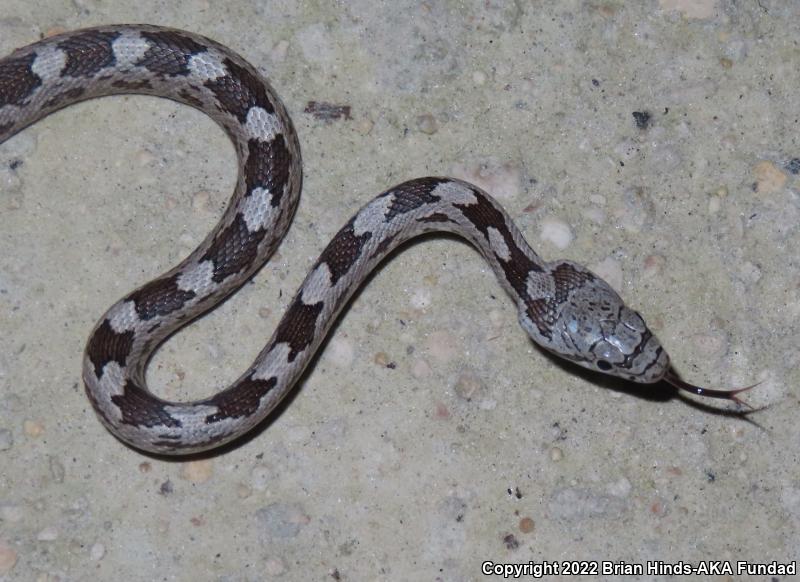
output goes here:
<path id="1" fill-rule="evenodd" d="M 211 278 L 221 283 L 231 275 L 255 266 L 258 245 L 264 240 L 267 231 L 263 228 L 250 232 L 241 214 L 217 234 L 214 242 L 202 257 L 202 261 L 214 263 Z"/>

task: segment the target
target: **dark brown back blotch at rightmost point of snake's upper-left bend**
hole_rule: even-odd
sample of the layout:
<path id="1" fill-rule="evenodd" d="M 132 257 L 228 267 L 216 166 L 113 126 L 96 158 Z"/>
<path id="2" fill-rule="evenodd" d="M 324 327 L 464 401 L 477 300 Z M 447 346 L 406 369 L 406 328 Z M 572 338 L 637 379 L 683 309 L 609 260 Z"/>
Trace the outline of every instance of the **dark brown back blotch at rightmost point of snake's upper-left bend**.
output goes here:
<path id="1" fill-rule="evenodd" d="M 272 194 L 273 208 L 280 204 L 283 192 L 289 181 L 292 167 L 292 154 L 286 147 L 283 135 L 276 135 L 272 141 L 251 139 L 247 142 L 247 160 L 244 164 L 244 179 L 247 191 L 264 188 Z"/>

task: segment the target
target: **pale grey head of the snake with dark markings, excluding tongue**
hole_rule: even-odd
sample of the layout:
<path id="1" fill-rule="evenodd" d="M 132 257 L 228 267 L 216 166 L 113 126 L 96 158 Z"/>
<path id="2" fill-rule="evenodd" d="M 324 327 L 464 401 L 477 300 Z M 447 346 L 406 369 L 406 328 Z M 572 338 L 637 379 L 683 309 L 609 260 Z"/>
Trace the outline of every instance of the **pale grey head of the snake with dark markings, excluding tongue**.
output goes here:
<path id="1" fill-rule="evenodd" d="M 608 283 L 570 261 L 530 274 L 520 323 L 536 343 L 590 370 L 650 384 L 670 367 L 642 316 Z"/>

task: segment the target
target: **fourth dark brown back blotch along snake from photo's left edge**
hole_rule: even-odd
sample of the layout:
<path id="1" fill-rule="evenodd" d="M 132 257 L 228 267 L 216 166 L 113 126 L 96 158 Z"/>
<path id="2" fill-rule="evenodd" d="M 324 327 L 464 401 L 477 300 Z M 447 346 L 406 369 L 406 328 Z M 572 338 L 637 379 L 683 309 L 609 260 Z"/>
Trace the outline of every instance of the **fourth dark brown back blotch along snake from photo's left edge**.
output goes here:
<path id="1" fill-rule="evenodd" d="M 204 83 L 216 95 L 223 111 L 235 116 L 242 123 L 247 121 L 247 112 L 252 107 L 261 107 L 267 113 L 275 113 L 275 106 L 267 93 L 266 81 L 229 58 L 223 64 L 228 74 Z"/>

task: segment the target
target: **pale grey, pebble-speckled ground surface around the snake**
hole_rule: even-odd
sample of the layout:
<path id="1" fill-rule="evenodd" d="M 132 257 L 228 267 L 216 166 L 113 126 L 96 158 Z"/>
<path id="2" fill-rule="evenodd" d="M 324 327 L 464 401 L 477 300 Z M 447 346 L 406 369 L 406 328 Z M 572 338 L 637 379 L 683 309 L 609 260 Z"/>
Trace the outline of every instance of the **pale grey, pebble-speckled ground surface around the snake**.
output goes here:
<path id="1" fill-rule="evenodd" d="M 33 4 L 2 0 L 2 54 L 95 24 L 189 29 L 267 74 L 300 134 L 279 256 L 162 348 L 159 395 L 235 379 L 362 204 L 445 174 L 494 193 L 546 258 L 606 277 L 688 380 L 760 381 L 747 400 L 767 408 L 748 423 L 559 364 L 477 253 L 434 238 L 371 280 L 252 439 L 143 456 L 95 418 L 83 343 L 208 232 L 234 154 L 187 107 L 96 100 L 0 146 L 0 579 L 449 582 L 486 579 L 487 560 L 661 560 L 738 580 L 737 560 L 798 557 L 800 3 Z"/>

